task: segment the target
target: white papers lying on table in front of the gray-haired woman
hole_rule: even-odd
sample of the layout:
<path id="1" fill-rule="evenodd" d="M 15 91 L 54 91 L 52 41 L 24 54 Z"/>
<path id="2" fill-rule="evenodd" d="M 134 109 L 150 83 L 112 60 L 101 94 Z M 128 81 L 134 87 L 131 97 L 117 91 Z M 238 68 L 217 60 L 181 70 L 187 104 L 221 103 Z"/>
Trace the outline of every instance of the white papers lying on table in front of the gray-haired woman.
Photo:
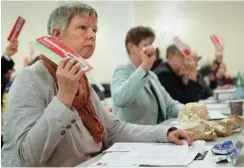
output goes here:
<path id="1" fill-rule="evenodd" d="M 199 142 L 192 146 L 170 143 L 115 143 L 90 167 L 186 166 L 202 149 L 203 146 L 199 145 Z"/>

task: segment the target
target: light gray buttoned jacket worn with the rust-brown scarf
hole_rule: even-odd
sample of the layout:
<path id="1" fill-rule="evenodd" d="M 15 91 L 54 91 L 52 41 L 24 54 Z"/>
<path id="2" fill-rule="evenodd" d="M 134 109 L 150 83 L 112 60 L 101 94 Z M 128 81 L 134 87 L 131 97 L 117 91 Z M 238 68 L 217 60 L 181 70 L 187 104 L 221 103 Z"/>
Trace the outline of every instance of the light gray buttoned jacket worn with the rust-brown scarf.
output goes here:
<path id="1" fill-rule="evenodd" d="M 106 128 L 102 145 L 94 143 L 78 113 L 56 97 L 56 85 L 43 62 L 25 68 L 7 98 L 2 166 L 76 166 L 114 142 L 167 142 L 169 127 L 121 122 L 90 90 Z"/>

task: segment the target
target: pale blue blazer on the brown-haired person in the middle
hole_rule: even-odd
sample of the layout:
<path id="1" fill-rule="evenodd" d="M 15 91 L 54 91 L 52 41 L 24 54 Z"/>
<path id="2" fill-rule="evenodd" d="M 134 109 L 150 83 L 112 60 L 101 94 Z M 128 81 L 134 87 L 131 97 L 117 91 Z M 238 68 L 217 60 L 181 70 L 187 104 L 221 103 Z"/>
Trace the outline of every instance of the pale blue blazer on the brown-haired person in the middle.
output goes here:
<path id="1" fill-rule="evenodd" d="M 148 86 L 149 81 L 159 104 Z M 146 72 L 140 66 L 136 68 L 131 61 L 115 69 L 111 91 L 117 117 L 135 124 L 157 124 L 158 106 L 165 120 L 177 118 L 179 110 L 184 107 L 171 98 L 153 72 Z"/>

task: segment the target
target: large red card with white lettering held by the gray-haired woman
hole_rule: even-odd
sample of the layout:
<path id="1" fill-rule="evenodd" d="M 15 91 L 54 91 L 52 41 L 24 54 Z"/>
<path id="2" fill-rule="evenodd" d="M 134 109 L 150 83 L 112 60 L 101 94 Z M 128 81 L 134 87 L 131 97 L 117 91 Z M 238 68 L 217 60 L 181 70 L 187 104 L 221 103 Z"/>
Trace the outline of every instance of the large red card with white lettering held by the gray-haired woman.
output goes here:
<path id="1" fill-rule="evenodd" d="M 88 72 L 93 69 L 93 67 L 83 59 L 78 53 L 66 46 L 64 43 L 52 36 L 43 36 L 36 40 L 52 52 L 54 52 L 60 58 L 70 57 L 76 59 L 80 62 L 83 71 Z"/>

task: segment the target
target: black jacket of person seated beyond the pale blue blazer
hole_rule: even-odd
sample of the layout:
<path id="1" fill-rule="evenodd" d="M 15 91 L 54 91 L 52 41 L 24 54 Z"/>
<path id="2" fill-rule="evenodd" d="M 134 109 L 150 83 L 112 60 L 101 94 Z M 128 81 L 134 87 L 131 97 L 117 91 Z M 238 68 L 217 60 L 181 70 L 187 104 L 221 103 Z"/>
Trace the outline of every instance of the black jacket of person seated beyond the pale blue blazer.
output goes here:
<path id="1" fill-rule="evenodd" d="M 182 78 L 173 72 L 168 63 L 160 64 L 154 72 L 170 96 L 183 104 L 197 102 L 213 95 L 212 90 L 195 81 L 190 80 L 185 85 Z"/>

